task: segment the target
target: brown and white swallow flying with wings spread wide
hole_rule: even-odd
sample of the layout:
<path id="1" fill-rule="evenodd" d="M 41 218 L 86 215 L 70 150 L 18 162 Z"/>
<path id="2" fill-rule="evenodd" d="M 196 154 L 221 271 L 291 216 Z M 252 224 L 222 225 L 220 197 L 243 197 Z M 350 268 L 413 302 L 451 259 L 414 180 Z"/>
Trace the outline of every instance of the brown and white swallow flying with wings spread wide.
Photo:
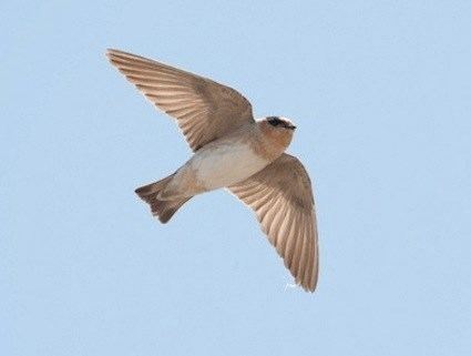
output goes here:
<path id="1" fill-rule="evenodd" d="M 225 189 L 250 207 L 297 285 L 316 289 L 318 233 L 313 186 L 301 162 L 285 152 L 295 124 L 254 119 L 238 91 L 168 64 L 109 49 L 109 61 L 157 109 L 175 119 L 193 155 L 168 176 L 137 187 L 167 223 L 195 195 Z"/>

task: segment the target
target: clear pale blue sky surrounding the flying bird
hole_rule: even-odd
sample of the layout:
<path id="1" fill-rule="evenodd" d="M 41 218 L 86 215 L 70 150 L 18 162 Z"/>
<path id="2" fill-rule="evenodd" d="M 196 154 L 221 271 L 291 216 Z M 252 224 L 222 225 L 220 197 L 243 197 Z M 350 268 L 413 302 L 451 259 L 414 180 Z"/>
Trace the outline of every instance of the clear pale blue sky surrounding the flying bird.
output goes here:
<path id="1" fill-rule="evenodd" d="M 471 355 L 469 1 L 2 1 L 0 355 Z M 106 61 L 151 57 L 298 125 L 320 279 L 224 191 L 134 189 L 191 152 Z"/>

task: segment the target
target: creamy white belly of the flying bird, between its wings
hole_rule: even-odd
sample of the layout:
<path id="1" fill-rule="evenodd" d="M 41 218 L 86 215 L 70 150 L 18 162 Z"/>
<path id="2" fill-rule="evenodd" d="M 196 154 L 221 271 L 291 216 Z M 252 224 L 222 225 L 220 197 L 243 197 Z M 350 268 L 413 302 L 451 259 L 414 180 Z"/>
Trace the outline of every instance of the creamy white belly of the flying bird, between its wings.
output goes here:
<path id="1" fill-rule="evenodd" d="M 248 144 L 227 144 L 197 152 L 191 160 L 197 182 L 206 190 L 228 186 L 263 170 L 269 162 Z"/>

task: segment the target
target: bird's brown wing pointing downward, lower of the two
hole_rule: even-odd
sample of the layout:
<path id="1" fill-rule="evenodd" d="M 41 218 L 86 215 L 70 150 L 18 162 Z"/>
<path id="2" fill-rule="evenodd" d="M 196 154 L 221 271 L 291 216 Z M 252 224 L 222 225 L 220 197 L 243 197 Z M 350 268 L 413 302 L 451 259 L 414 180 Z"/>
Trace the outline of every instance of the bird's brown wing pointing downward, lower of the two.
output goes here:
<path id="1" fill-rule="evenodd" d="M 299 160 L 284 153 L 228 190 L 255 211 L 296 283 L 314 292 L 319 265 L 316 213 L 310 180 Z"/>

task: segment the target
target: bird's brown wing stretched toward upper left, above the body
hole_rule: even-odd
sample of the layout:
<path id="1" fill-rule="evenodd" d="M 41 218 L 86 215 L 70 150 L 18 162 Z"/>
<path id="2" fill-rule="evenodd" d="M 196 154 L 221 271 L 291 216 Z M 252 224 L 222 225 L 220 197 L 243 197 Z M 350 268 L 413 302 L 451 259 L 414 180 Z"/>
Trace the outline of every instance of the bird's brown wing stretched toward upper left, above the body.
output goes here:
<path id="1" fill-rule="evenodd" d="M 177 120 L 193 151 L 254 121 L 248 100 L 229 87 L 119 50 L 106 55 L 151 102 Z"/>

